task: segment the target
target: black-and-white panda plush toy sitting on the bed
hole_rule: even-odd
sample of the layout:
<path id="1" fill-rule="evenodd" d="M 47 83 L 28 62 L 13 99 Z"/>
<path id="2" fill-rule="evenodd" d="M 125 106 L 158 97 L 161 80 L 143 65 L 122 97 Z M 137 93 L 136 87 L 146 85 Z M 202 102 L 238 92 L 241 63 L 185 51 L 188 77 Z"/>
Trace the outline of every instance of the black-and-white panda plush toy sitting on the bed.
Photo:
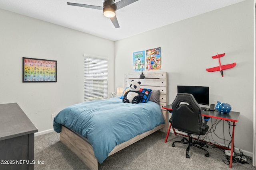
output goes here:
<path id="1" fill-rule="evenodd" d="M 142 93 L 140 92 L 141 82 L 132 80 L 129 91 L 124 94 L 123 102 L 138 104 L 142 100 Z"/>

